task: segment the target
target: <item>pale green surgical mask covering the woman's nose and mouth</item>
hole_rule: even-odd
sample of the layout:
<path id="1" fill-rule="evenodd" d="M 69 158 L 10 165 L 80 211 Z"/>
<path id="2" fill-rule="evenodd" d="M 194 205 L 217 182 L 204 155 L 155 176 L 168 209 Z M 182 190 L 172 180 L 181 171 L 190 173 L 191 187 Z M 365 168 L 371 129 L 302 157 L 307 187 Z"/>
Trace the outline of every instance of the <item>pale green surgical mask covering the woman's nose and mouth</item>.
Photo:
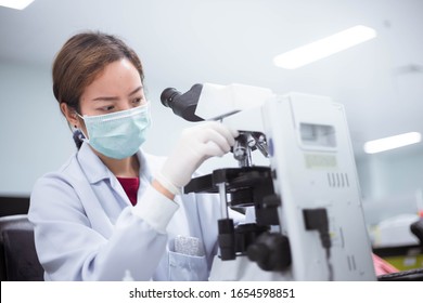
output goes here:
<path id="1" fill-rule="evenodd" d="M 124 159 L 134 155 L 145 141 L 151 124 L 150 103 L 100 116 L 80 116 L 87 128 L 85 139 L 106 157 Z"/>

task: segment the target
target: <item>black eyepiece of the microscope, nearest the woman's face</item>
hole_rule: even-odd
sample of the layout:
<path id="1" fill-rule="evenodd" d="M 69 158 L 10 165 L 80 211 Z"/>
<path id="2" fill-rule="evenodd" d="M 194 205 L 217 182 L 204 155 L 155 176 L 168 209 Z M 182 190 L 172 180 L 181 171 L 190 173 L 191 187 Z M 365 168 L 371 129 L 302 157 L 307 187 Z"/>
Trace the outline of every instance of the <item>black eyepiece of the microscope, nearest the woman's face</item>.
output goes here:
<path id="1" fill-rule="evenodd" d="M 171 108 L 176 115 L 188 121 L 202 121 L 203 119 L 195 115 L 202 89 L 202 84 L 194 84 L 188 92 L 182 94 L 177 89 L 167 88 L 161 94 L 161 102 L 164 106 Z"/>

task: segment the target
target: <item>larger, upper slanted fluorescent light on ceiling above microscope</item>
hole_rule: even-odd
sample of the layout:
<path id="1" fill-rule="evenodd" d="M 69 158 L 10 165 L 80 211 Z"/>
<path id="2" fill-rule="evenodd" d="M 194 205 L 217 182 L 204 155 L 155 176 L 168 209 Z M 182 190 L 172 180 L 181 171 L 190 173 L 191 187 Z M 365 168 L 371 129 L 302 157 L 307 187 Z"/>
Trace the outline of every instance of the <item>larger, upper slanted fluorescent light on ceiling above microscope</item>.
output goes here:
<path id="1" fill-rule="evenodd" d="M 273 63 L 282 68 L 295 69 L 366 42 L 374 37 L 376 37 L 376 31 L 373 28 L 357 25 L 321 40 L 280 54 L 273 58 Z"/>

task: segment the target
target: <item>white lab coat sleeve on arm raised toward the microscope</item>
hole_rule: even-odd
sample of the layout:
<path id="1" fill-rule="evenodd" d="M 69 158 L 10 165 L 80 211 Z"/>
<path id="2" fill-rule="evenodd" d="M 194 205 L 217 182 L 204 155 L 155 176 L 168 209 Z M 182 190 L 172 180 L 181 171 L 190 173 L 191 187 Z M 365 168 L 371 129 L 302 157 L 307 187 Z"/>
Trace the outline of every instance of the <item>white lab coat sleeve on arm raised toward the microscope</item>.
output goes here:
<path id="1" fill-rule="evenodd" d="M 143 209 L 153 202 L 165 218 L 157 209 L 152 213 Z M 177 207 L 152 187 L 139 203 L 137 210 L 125 208 L 116 224 L 108 222 L 108 234 L 99 233 L 91 227 L 72 182 L 60 174 L 40 179 L 31 193 L 29 220 L 46 279 L 121 280 L 125 271 L 136 280 L 151 279 L 166 252 L 164 230 Z"/>

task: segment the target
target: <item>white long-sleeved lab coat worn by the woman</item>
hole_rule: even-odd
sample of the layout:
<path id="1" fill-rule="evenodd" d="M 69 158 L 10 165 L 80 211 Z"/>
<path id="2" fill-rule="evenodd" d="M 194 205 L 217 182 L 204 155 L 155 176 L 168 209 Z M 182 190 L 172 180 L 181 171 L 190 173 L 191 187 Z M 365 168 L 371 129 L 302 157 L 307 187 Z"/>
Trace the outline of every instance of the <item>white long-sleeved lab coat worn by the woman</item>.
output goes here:
<path id="1" fill-rule="evenodd" d="M 29 220 L 46 280 L 121 280 L 126 271 L 134 280 L 207 280 L 217 253 L 218 196 L 169 200 L 150 185 L 164 159 L 137 155 L 136 207 L 87 143 L 35 184 Z M 198 238 L 205 255 L 175 252 L 178 235 Z"/>

